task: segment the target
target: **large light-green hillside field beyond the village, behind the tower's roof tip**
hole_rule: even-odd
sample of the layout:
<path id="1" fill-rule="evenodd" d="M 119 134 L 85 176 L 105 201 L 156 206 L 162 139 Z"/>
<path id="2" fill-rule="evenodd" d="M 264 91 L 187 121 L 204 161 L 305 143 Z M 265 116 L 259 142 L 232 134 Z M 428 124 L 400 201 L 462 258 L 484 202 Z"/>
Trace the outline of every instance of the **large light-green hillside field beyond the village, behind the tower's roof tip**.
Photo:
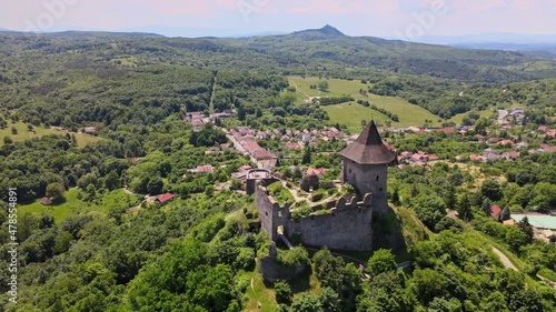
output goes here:
<path id="1" fill-rule="evenodd" d="M 395 98 L 395 97 L 381 97 L 376 94 L 368 94 L 367 98 L 359 94 L 359 90 L 366 90 L 369 84 L 361 83 L 360 81 L 349 81 L 340 79 L 329 79 L 329 91 L 320 92 L 315 89 L 310 89 L 311 84 L 318 84 L 321 81 L 318 78 L 306 78 L 290 77 L 289 82 L 291 85 L 296 87 L 298 90 L 298 95 L 300 98 L 308 99 L 310 97 L 338 97 L 349 94 L 356 101 L 365 100 L 369 101 L 370 104 L 375 104 L 378 108 L 390 111 L 399 117 L 399 122 L 391 121 L 387 115 L 375 111 L 370 108 L 363 107 L 356 102 L 341 103 L 336 105 L 327 105 L 324 109 L 328 112 L 330 121 L 332 123 L 340 123 L 347 125 L 347 128 L 353 132 L 358 132 L 361 130 L 361 120 L 375 119 L 385 124 L 385 121 L 390 120 L 393 127 L 423 127 L 425 120 L 431 120 L 430 125 L 439 125 L 439 117 L 433 114 L 426 109 L 414 105 L 408 101 Z"/>

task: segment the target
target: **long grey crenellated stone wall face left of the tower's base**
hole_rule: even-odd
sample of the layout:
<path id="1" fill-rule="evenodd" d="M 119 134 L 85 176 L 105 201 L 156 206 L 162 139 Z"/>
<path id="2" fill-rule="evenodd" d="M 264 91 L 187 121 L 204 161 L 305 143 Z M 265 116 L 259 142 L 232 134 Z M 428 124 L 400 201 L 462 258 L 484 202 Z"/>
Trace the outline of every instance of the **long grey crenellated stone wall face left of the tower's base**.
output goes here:
<path id="1" fill-rule="evenodd" d="M 300 221 L 288 220 L 285 227 L 287 236 L 300 235 L 301 242 L 309 246 L 327 246 L 335 250 L 373 249 L 373 208 L 371 195 L 363 202 L 355 199 L 347 203 L 337 202 L 330 213 L 311 214 Z"/>

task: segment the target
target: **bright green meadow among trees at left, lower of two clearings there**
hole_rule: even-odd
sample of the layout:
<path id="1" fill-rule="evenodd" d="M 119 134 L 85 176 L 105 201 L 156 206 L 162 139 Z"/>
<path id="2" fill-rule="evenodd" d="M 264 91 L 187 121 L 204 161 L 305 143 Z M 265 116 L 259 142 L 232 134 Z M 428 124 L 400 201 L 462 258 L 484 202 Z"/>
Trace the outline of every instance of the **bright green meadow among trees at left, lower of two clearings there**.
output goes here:
<path id="1" fill-rule="evenodd" d="M 127 194 L 123 189 L 115 190 L 105 197 L 102 197 L 102 202 L 97 205 L 95 203 L 85 202 L 77 198 L 79 194 L 79 189 L 71 189 L 66 192 L 66 202 L 58 205 L 43 205 L 40 200 L 36 200 L 30 204 L 21 204 L 18 209 L 19 217 L 24 213 L 30 212 L 33 214 L 51 214 L 54 218 L 56 223 L 60 223 L 69 215 L 81 212 L 81 211 L 101 211 L 108 213 L 108 210 L 112 207 L 132 207 L 139 203 L 139 199 Z"/>

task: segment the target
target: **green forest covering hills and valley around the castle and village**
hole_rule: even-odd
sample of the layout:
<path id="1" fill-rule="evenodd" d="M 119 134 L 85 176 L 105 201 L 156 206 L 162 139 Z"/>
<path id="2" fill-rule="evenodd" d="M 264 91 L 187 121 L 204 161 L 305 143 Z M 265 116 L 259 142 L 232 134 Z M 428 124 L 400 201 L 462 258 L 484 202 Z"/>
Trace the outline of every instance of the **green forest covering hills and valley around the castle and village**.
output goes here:
<path id="1" fill-rule="evenodd" d="M 311 90 L 324 93 L 321 102 L 304 101 L 291 77 L 318 78 Z M 257 139 L 276 152 L 274 171 L 295 184 L 308 168 L 326 169 L 314 195 L 335 194 L 337 152 L 347 143 L 288 150 L 286 132 L 335 127 L 358 134 L 326 109 L 351 101 L 393 122 L 405 117 L 371 99 L 327 95 L 331 79 L 361 81 L 360 94 L 403 99 L 446 127 L 460 125 L 449 119 L 464 114 L 475 131 L 381 134 L 399 151 L 443 160 L 388 169 L 393 212 L 374 227 L 399 231 L 404 251 L 337 254 L 294 242 L 291 250 L 278 246 L 276 262 L 308 272 L 265 282 L 257 263 L 270 241 L 250 227 L 260 222 L 254 195 L 231 178 L 257 164 L 224 145 L 232 143 L 227 132 L 278 131 Z M 528 140 L 530 149 L 556 144 L 534 133 L 554 127 L 555 102 L 556 59 L 525 52 L 347 37 L 329 28 L 238 39 L 0 31 L 0 224 L 8 229 L 7 190 L 17 189 L 19 242 L 18 303 L 8 301 L 11 273 L 2 269 L 0 311 L 556 311 L 556 291 L 544 282 L 556 282 L 555 243 L 534 239 L 527 219 L 506 227 L 490 218 L 493 204 L 504 219 L 554 211 L 556 153 L 468 161 L 489 147 L 476 135 L 487 132 Z M 480 114 L 517 107 L 525 122 L 513 130 Z M 191 112 L 225 111 L 232 117 L 198 129 L 185 122 Z M 191 172 L 201 165 L 212 171 Z M 163 193 L 176 198 L 155 200 Z M 11 261 L 10 240 L 2 230 L 2 268 Z"/>

